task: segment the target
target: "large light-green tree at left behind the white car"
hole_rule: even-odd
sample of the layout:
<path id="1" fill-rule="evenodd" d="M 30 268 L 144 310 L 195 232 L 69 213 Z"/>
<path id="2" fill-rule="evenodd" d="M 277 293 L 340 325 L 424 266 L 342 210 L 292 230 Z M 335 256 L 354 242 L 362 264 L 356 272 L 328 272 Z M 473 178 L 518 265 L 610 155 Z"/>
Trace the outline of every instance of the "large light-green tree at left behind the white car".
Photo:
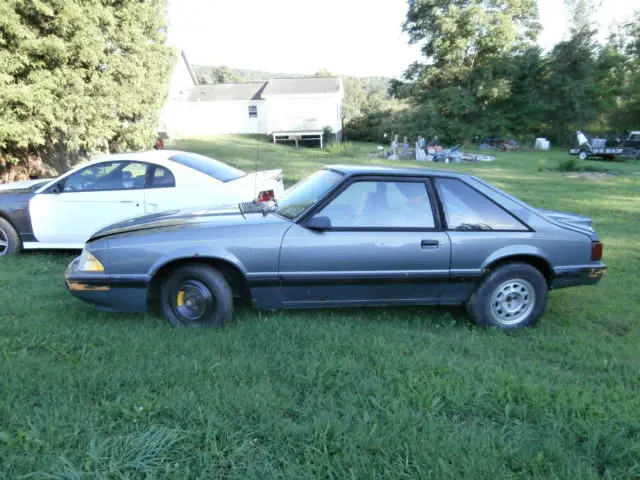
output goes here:
<path id="1" fill-rule="evenodd" d="M 0 157 L 63 171 L 148 148 L 175 53 L 165 0 L 0 2 Z"/>

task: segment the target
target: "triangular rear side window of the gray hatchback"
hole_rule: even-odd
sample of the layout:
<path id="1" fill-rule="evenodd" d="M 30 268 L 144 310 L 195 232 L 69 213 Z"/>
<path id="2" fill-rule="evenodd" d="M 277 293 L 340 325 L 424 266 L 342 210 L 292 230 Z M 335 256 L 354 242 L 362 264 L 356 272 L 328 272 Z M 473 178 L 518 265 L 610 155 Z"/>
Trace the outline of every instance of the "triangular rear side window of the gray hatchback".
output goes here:
<path id="1" fill-rule="evenodd" d="M 448 230 L 523 232 L 528 230 L 513 215 L 466 183 L 453 178 L 438 178 L 435 182 Z"/>

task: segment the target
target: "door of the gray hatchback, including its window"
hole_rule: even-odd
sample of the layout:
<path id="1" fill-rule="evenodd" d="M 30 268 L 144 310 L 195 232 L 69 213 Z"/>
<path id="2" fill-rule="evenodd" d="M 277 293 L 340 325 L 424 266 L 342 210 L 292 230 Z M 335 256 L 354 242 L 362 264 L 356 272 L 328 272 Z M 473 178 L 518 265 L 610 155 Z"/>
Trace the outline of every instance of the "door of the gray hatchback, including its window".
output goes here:
<path id="1" fill-rule="evenodd" d="M 280 253 L 285 306 L 436 302 L 449 278 L 451 246 L 422 178 L 361 178 L 294 224 Z"/>

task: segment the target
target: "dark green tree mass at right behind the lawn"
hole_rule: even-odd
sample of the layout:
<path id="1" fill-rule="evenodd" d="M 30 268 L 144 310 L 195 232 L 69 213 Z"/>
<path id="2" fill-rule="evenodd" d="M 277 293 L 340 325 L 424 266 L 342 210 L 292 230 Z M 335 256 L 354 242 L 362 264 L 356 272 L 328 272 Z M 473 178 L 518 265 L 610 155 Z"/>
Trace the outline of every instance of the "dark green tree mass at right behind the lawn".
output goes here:
<path id="1" fill-rule="evenodd" d="M 576 129 L 640 128 L 640 11 L 602 45 L 591 22 L 597 1 L 565 3 L 570 37 L 543 53 L 535 0 L 410 0 L 405 30 L 423 60 L 389 88 L 410 107 L 390 120 L 354 119 L 351 138 L 367 126 L 368 137 L 546 136 L 566 145 Z"/>

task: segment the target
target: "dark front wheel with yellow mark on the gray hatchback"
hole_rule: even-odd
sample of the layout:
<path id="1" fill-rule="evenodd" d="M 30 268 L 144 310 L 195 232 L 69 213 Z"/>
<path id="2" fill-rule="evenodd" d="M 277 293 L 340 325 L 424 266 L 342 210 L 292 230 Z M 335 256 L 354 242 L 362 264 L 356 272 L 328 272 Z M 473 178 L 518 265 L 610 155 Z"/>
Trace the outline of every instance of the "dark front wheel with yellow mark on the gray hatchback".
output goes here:
<path id="1" fill-rule="evenodd" d="M 162 314 L 174 327 L 222 326 L 233 314 L 229 283 L 207 265 L 174 270 L 162 284 L 160 298 Z"/>

